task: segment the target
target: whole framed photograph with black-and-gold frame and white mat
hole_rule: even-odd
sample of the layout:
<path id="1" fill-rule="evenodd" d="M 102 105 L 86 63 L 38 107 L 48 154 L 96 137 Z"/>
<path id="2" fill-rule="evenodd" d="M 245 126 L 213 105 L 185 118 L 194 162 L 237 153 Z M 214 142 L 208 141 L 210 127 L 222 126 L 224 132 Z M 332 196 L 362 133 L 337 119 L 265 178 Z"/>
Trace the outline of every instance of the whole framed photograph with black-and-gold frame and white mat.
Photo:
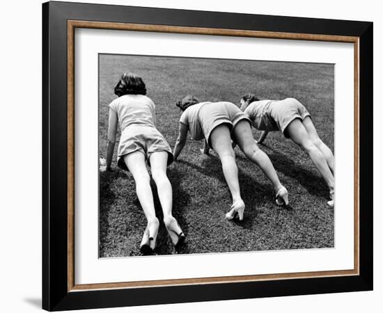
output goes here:
<path id="1" fill-rule="evenodd" d="M 42 5 L 42 307 L 373 289 L 373 23 Z"/>

